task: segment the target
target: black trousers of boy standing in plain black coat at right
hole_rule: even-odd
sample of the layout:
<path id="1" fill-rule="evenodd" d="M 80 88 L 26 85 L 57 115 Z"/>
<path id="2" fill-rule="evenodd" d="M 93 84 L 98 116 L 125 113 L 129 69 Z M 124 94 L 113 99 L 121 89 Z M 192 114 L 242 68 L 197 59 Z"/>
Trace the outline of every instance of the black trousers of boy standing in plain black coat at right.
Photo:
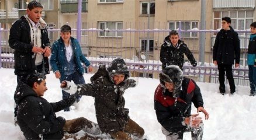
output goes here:
<path id="1" fill-rule="evenodd" d="M 232 74 L 232 65 L 218 64 L 218 70 L 219 70 L 220 88 L 225 89 L 225 72 L 226 72 L 227 80 L 229 81 L 230 92 L 231 93 L 236 92 L 236 86 L 234 84 L 234 78 Z"/>

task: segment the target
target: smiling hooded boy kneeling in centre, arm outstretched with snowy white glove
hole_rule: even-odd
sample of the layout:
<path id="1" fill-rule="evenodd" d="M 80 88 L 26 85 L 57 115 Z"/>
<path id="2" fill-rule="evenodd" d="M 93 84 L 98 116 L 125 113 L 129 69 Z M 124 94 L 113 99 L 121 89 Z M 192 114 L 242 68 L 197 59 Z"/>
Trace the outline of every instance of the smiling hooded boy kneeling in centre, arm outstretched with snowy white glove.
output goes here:
<path id="1" fill-rule="evenodd" d="M 128 79 L 130 72 L 123 59 L 112 61 L 108 69 L 101 66 L 91 78 L 92 83 L 71 85 L 63 81 L 61 88 L 68 93 L 87 95 L 95 98 L 95 111 L 99 128 L 115 139 L 132 139 L 129 134 L 141 138 L 144 129 L 129 117 L 129 109 L 124 108 L 124 91 L 136 86 L 136 81 Z M 75 90 L 74 90 L 75 88 Z"/>

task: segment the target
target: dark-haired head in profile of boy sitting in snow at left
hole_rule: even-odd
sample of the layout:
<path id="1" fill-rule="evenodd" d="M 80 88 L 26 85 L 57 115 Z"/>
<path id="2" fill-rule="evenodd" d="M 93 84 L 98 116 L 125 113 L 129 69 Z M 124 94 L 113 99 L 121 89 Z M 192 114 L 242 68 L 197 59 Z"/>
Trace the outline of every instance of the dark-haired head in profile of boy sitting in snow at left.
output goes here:
<path id="1" fill-rule="evenodd" d="M 35 72 L 27 76 L 27 85 L 30 86 L 38 96 L 43 96 L 46 92 L 46 76 Z"/>

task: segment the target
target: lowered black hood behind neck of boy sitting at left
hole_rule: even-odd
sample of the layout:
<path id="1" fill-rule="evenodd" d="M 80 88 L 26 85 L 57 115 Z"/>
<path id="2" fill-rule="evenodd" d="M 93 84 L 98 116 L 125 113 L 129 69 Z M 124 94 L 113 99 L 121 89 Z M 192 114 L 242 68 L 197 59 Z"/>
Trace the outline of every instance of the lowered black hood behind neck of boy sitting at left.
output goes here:
<path id="1" fill-rule="evenodd" d="M 36 92 L 34 92 L 34 90 L 30 86 L 26 85 L 23 82 L 19 82 L 18 86 L 15 90 L 15 93 L 14 93 L 15 103 L 19 104 L 20 101 L 22 101 L 27 96 L 36 96 L 36 97 L 38 97 Z"/>

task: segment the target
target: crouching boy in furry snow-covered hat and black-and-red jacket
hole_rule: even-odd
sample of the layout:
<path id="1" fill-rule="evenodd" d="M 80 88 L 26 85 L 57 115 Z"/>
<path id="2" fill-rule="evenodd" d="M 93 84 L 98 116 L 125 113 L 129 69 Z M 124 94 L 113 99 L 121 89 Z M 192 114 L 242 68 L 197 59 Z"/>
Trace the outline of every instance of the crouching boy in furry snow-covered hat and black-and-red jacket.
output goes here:
<path id="1" fill-rule="evenodd" d="M 160 74 L 160 85 L 155 89 L 154 108 L 162 133 L 167 140 L 182 139 L 184 132 L 192 132 L 192 139 L 202 139 L 203 124 L 199 114 L 191 114 L 191 104 L 209 114 L 203 108 L 203 99 L 195 81 L 184 78 L 176 65 L 170 65 Z"/>

